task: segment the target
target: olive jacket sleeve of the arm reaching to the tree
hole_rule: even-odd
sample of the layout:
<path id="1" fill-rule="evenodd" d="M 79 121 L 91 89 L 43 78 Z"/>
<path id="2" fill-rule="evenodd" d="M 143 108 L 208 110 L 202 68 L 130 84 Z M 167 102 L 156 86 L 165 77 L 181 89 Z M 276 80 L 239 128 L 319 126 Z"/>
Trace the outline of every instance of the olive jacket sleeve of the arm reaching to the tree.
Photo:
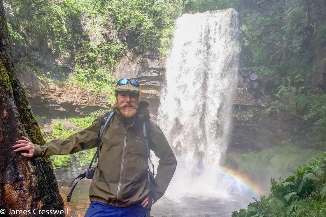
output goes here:
<path id="1" fill-rule="evenodd" d="M 77 132 L 67 139 L 53 139 L 43 146 L 34 144 L 34 157 L 44 157 L 58 154 L 72 154 L 84 149 L 92 149 L 97 145 L 97 134 L 100 130 L 103 115 L 95 119 L 91 126 Z"/>

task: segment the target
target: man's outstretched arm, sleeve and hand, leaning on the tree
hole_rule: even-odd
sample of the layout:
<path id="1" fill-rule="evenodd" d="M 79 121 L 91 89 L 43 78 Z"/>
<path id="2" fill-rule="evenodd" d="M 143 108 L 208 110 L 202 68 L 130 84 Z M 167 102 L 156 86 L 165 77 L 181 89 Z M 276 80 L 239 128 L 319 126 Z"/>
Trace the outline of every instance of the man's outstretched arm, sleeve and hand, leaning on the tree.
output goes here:
<path id="1" fill-rule="evenodd" d="M 27 137 L 22 137 L 22 140 L 17 140 L 16 145 L 13 146 L 15 148 L 14 151 L 28 151 L 28 153 L 22 153 L 25 157 L 44 157 L 58 154 L 72 154 L 84 149 L 95 148 L 102 116 L 99 116 L 93 121 L 91 126 L 71 135 L 67 139 L 53 139 L 43 146 L 33 144 Z"/>

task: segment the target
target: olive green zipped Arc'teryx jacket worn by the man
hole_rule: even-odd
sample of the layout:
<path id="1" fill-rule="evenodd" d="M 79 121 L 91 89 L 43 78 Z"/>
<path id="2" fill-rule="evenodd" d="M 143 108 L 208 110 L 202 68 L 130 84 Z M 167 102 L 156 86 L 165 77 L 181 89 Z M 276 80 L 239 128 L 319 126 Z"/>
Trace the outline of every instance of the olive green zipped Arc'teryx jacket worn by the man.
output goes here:
<path id="1" fill-rule="evenodd" d="M 147 184 L 148 155 L 138 115 L 126 128 L 117 106 L 110 125 L 101 138 L 102 148 L 89 189 L 91 201 L 98 200 L 117 207 L 140 203 L 149 193 Z M 67 139 L 54 139 L 43 146 L 35 144 L 35 157 L 72 154 L 97 146 L 100 115 L 93 124 Z M 161 129 L 150 121 L 149 147 L 160 159 L 156 171 L 154 201 L 163 196 L 176 168 L 176 159 Z"/>

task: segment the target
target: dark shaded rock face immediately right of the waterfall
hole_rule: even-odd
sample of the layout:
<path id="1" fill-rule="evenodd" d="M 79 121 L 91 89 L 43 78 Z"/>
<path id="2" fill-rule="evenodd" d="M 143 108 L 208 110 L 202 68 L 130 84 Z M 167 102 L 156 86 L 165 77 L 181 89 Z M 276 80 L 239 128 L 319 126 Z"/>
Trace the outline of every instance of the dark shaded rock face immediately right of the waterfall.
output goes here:
<path id="1" fill-rule="evenodd" d="M 272 93 L 259 84 L 255 73 L 239 69 L 228 154 L 270 148 L 286 137 L 278 118 L 265 114 L 266 100 Z"/>

